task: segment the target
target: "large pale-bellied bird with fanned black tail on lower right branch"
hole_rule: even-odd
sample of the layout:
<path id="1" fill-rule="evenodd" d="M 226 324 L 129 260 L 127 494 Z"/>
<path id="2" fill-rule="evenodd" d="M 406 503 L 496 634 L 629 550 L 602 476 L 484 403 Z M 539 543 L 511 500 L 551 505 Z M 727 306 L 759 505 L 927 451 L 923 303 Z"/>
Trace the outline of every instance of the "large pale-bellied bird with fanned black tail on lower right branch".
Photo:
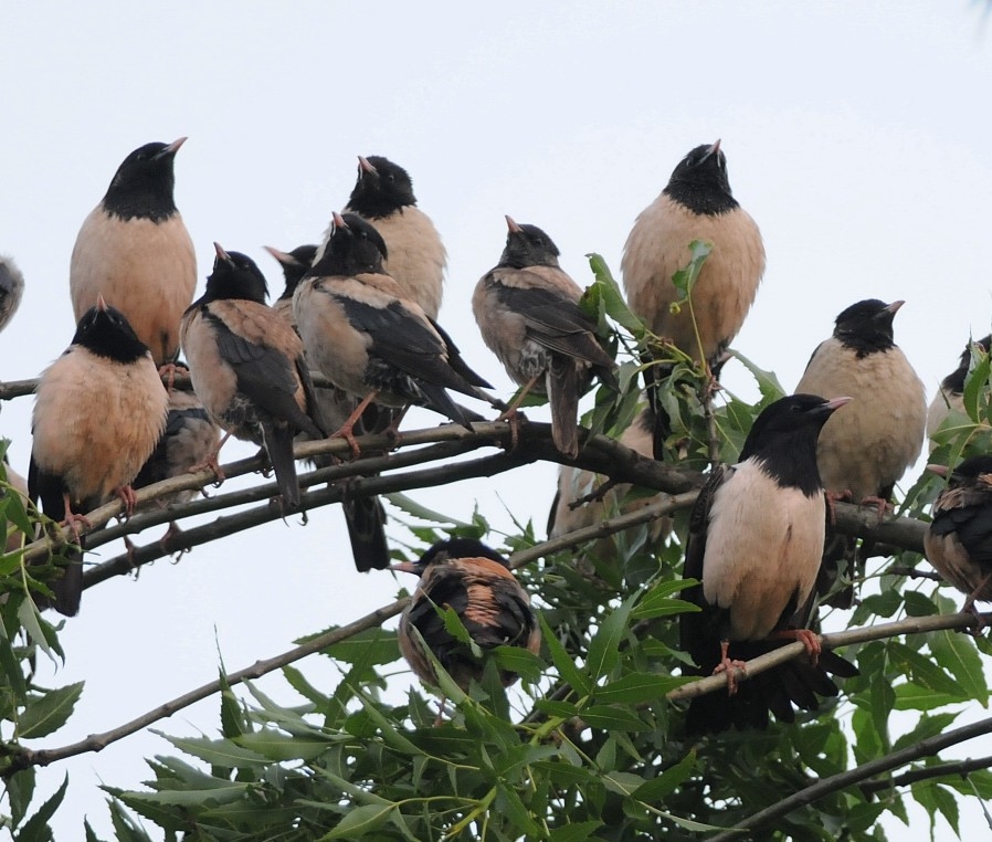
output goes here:
<path id="1" fill-rule="evenodd" d="M 701 611 L 679 617 L 682 646 L 700 675 L 726 672 L 729 693 L 693 701 L 690 734 L 731 725 L 763 728 L 769 711 L 792 722 L 793 704 L 812 711 L 817 695 L 837 694 L 827 670 L 843 674 L 843 665 L 851 666 L 821 653 L 809 630 L 826 515 L 816 436 L 848 400 L 793 394 L 775 401 L 758 415 L 737 464 L 714 469 L 699 493 L 685 576 L 700 583 L 683 598 Z M 738 693 L 731 667 L 782 645 L 769 638 L 790 636 L 802 640 L 819 663 L 791 661 L 754 676 Z"/>

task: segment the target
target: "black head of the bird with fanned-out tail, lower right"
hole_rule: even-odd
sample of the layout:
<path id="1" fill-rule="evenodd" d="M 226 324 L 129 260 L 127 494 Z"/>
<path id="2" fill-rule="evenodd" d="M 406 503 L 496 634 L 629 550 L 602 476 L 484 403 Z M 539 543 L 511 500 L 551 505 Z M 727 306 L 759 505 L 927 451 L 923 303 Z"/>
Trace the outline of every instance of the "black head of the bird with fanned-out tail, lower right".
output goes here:
<path id="1" fill-rule="evenodd" d="M 756 457 L 779 485 L 808 495 L 823 487 L 816 465 L 816 440 L 834 410 L 849 398 L 826 400 L 819 394 L 790 394 L 766 407 L 748 433 L 740 462 Z"/>

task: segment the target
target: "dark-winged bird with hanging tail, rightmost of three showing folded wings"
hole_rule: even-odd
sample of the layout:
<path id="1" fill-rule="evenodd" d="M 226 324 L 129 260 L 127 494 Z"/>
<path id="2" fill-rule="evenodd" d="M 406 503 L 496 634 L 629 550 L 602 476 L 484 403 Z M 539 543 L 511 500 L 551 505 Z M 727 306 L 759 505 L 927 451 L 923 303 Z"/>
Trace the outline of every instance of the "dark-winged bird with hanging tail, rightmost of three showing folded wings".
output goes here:
<path id="1" fill-rule="evenodd" d="M 521 397 L 548 396 L 555 446 L 574 457 L 579 398 L 592 373 L 615 387 L 613 358 L 597 340 L 595 322 L 579 308 L 582 288 L 558 264 L 551 238 L 511 217 L 506 224 L 506 248 L 476 284 L 472 311 L 483 340 L 524 387 Z"/>

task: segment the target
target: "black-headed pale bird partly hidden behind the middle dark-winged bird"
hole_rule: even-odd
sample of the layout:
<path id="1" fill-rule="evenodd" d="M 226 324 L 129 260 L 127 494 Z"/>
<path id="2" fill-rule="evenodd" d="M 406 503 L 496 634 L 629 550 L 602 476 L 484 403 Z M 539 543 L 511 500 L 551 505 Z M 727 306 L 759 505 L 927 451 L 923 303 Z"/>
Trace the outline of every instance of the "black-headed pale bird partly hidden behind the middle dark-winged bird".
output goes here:
<path id="1" fill-rule="evenodd" d="M 386 241 L 386 271 L 431 319 L 441 309 L 447 254 L 431 218 L 416 207 L 410 175 L 389 158 L 358 158 L 358 181 L 345 212 L 371 222 Z"/>

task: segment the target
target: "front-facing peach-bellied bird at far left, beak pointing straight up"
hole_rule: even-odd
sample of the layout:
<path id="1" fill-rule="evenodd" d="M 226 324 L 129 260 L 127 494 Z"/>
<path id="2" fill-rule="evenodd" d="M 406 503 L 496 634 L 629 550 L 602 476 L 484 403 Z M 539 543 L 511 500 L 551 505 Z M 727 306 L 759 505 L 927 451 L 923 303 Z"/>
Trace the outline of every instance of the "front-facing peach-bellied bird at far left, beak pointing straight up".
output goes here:
<path id="1" fill-rule="evenodd" d="M 130 483 L 166 427 L 169 396 L 148 346 L 102 295 L 80 319 L 68 349 L 42 373 L 32 415 L 29 496 L 72 528 L 116 493 L 130 514 Z M 82 554 L 71 550 L 54 606 L 73 615 L 83 589 Z"/>

